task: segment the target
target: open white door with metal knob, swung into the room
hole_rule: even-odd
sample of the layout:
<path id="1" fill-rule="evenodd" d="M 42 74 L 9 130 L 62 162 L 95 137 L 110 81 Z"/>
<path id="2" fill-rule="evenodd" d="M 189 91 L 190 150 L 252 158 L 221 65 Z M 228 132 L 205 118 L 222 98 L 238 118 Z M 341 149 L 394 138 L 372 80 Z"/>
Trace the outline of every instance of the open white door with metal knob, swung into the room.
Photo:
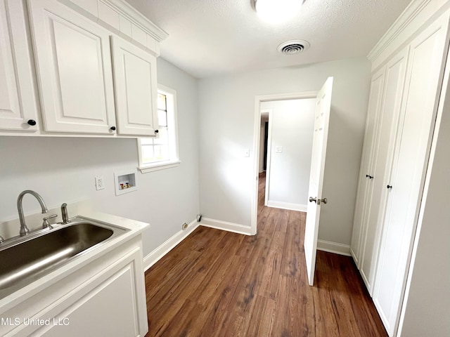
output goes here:
<path id="1" fill-rule="evenodd" d="M 314 121 L 314 140 L 312 143 L 311 175 L 309 176 L 308 192 L 310 202 L 304 230 L 304 256 L 307 261 L 310 286 L 314 284 L 314 270 L 316 270 L 317 234 L 319 234 L 321 204 L 326 204 L 326 198 L 322 198 L 322 184 L 332 90 L 333 77 L 328 77 L 316 100 L 316 118 Z"/>

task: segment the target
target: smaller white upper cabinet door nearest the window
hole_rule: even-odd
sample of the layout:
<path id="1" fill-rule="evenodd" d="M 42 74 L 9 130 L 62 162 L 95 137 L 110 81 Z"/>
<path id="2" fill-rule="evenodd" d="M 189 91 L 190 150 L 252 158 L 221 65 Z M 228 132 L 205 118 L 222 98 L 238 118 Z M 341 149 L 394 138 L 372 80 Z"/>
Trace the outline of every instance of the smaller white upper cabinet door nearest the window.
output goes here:
<path id="1" fill-rule="evenodd" d="M 158 126 L 156 58 L 119 37 L 111 41 L 118 132 L 154 136 Z"/>

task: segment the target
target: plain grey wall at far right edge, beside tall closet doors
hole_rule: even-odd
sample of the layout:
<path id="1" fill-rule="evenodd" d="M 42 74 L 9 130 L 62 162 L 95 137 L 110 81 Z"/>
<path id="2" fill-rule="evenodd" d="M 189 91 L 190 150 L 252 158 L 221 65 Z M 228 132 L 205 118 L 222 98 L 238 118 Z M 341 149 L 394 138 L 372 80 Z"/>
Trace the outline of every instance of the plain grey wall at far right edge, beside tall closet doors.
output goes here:
<path id="1" fill-rule="evenodd" d="M 401 336 L 450 336 L 450 88 L 435 156 L 428 166 L 422 221 L 419 221 L 405 293 Z M 436 136 L 435 132 L 435 136 Z"/>

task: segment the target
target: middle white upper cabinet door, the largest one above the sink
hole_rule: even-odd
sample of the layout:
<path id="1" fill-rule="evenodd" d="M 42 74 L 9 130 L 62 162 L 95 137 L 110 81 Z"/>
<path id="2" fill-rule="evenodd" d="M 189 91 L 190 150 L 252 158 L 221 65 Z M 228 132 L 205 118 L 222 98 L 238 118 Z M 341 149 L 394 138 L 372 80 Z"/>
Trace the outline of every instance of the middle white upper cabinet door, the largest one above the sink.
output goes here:
<path id="1" fill-rule="evenodd" d="M 46 131 L 113 133 L 109 34 L 53 0 L 29 0 Z"/>

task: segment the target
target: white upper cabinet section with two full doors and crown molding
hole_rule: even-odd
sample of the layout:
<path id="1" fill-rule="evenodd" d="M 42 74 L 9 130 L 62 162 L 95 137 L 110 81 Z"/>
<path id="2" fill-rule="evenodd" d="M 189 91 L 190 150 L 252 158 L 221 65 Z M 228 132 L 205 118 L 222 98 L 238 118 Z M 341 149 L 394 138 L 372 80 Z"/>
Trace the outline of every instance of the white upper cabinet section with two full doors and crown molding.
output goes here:
<path id="1" fill-rule="evenodd" d="M 167 34 L 126 1 L 27 4 L 44 128 L 39 134 L 155 136 L 156 57 Z"/>

